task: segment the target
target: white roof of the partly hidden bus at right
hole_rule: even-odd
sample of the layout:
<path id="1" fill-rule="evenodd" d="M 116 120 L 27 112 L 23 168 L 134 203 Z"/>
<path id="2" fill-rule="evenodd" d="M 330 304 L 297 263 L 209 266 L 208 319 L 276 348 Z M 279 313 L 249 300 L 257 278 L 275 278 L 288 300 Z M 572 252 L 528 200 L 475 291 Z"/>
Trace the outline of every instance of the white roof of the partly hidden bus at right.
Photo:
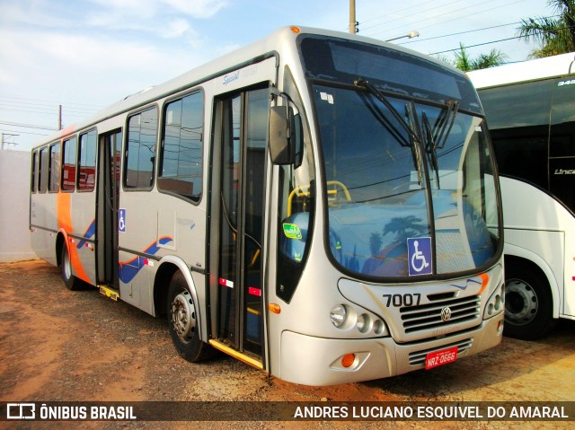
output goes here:
<path id="1" fill-rule="evenodd" d="M 468 72 L 475 88 L 575 74 L 575 52 Z"/>

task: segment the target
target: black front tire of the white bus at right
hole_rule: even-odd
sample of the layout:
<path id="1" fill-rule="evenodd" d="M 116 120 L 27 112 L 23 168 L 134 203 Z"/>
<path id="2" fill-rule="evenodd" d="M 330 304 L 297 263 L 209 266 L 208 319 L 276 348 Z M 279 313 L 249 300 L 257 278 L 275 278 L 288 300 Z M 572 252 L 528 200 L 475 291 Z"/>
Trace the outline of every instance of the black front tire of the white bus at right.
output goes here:
<path id="1" fill-rule="evenodd" d="M 553 296 L 544 274 L 513 262 L 505 267 L 504 334 L 510 338 L 543 338 L 555 324 Z"/>

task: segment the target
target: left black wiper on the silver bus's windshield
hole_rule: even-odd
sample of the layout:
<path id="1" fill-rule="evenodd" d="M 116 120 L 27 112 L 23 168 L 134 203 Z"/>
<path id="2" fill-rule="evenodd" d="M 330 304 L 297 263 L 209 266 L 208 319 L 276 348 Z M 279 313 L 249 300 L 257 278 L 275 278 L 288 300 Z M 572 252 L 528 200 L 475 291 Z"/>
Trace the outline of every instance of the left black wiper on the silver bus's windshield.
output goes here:
<path id="1" fill-rule="evenodd" d="M 354 85 L 358 86 L 359 88 L 365 88 L 367 91 L 371 92 L 373 95 L 376 96 L 378 101 L 381 101 L 385 107 L 392 112 L 394 118 L 397 119 L 397 122 L 403 127 L 403 129 L 407 132 L 410 136 L 410 147 L 411 147 L 411 157 L 413 158 L 413 166 L 417 170 L 418 182 L 421 185 L 423 180 L 423 173 L 421 169 L 421 154 L 420 154 L 420 143 L 423 143 L 422 138 L 420 137 L 420 127 L 419 122 L 417 120 L 417 114 L 415 113 L 415 106 L 413 105 L 413 101 L 411 101 L 411 105 L 405 105 L 405 116 L 407 118 L 402 118 L 402 115 L 394 108 L 394 105 L 387 99 L 383 92 L 377 90 L 375 86 L 373 86 L 369 81 L 359 78 L 354 82 Z M 412 114 L 410 113 L 410 106 Z M 400 142 L 400 145 L 403 145 Z"/>

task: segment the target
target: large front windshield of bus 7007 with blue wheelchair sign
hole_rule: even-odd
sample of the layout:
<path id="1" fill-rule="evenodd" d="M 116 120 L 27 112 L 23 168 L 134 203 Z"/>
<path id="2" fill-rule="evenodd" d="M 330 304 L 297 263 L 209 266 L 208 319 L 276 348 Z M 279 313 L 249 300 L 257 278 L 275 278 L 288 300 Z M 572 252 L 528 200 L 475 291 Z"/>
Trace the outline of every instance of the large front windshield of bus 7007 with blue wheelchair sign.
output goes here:
<path id="1" fill-rule="evenodd" d="M 427 75 L 370 76 L 375 84 L 336 75 L 311 79 L 332 260 L 383 281 L 490 264 L 500 251 L 497 182 L 483 119 L 470 109 L 473 89 L 462 91 L 447 69 L 444 94 Z M 431 76 L 441 82 L 437 67 Z"/>

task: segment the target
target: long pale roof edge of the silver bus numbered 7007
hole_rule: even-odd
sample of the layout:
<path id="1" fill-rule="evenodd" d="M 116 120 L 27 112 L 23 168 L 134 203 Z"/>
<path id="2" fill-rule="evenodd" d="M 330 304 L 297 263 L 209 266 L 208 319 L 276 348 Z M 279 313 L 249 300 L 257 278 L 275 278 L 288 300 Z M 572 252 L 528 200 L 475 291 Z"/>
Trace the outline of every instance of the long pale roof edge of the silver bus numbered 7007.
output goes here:
<path id="1" fill-rule="evenodd" d="M 296 29 L 296 31 L 293 29 Z M 193 68 L 182 75 L 168 80 L 167 82 L 160 83 L 157 86 L 151 86 L 142 90 L 141 92 L 128 95 L 128 97 L 124 98 L 123 100 L 120 100 L 111 106 L 96 112 L 92 117 L 86 118 L 76 124 L 65 127 L 64 129 L 59 130 L 56 134 L 42 138 L 42 140 L 37 145 L 34 145 L 34 148 L 49 144 L 66 136 L 71 136 L 73 133 L 84 130 L 88 127 L 93 127 L 95 124 L 101 122 L 102 120 L 112 118 L 121 113 L 128 112 L 129 110 L 137 109 L 138 107 L 144 106 L 152 101 L 161 99 L 175 92 L 181 92 L 185 89 L 192 88 L 193 86 L 208 81 L 217 75 L 223 75 L 232 69 L 238 68 L 238 66 L 247 66 L 253 62 L 261 61 L 263 57 L 272 57 L 274 55 L 277 56 L 281 50 L 282 45 L 284 45 L 288 40 L 295 39 L 299 34 L 302 33 L 332 36 L 340 39 L 352 39 L 388 48 L 394 48 L 397 51 L 416 57 L 425 57 L 429 61 L 437 63 L 440 66 L 449 67 L 445 63 L 440 62 L 437 58 L 429 57 L 421 54 L 420 52 L 411 50 L 409 48 L 403 48 L 399 45 L 395 45 L 383 40 L 351 35 L 341 31 L 321 30 L 303 26 L 286 26 L 280 28 L 277 31 L 274 31 L 266 38 L 256 40 L 243 48 L 238 48 L 223 57 L 218 57 L 204 65 Z M 454 70 L 456 69 L 454 68 Z"/>

